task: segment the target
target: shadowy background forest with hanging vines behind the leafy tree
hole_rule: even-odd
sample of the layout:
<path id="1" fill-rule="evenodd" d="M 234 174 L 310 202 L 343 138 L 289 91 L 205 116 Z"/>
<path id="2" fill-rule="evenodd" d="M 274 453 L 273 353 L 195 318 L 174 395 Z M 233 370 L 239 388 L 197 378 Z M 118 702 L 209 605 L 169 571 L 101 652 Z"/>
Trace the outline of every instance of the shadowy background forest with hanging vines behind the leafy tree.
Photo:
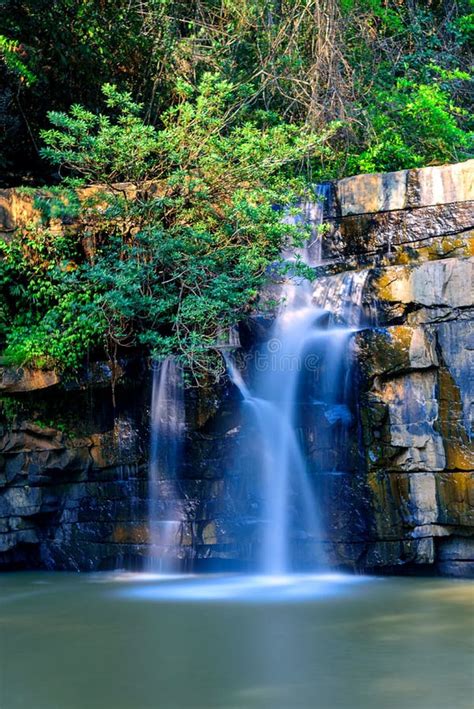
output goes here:
<path id="1" fill-rule="evenodd" d="M 75 105 L 97 116 L 112 107 L 113 94 L 101 92 L 107 82 L 121 100 L 143 105 L 147 124 L 161 127 L 163 114 L 216 72 L 247 87 L 242 103 L 255 114 L 263 110 L 267 120 L 273 115 L 316 131 L 344 122 L 332 157 L 311 165 L 316 177 L 431 164 L 468 149 L 462 132 L 472 129 L 470 0 L 4 0 L 3 6 L 0 54 L 10 70 L 0 123 L 4 107 L 11 126 L 4 164 L 26 156 L 35 164 L 48 111 Z M 449 124 L 441 125 L 434 153 L 425 106 Z M 123 120 L 133 130 L 133 113 Z"/>

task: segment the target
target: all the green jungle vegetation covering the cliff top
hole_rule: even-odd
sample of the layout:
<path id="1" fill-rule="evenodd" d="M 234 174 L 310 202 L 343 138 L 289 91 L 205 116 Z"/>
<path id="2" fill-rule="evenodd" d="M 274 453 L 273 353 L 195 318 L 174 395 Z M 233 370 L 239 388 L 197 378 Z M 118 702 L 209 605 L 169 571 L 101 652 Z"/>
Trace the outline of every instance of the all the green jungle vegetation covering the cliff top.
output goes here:
<path id="1" fill-rule="evenodd" d="M 282 208 L 318 181 L 472 155 L 472 0 L 0 10 L 2 183 L 44 215 L 0 240 L 9 364 L 140 350 L 208 372 L 304 238 Z"/>

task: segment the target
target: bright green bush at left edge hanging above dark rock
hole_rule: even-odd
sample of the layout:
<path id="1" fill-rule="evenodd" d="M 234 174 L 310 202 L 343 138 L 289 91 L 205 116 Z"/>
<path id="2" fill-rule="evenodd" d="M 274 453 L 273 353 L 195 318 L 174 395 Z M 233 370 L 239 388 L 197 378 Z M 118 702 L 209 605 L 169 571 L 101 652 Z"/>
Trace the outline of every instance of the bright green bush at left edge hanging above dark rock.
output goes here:
<path id="1" fill-rule="evenodd" d="M 66 274 L 76 268 L 75 239 L 46 229 L 0 240 L 0 289 L 7 342 L 6 364 L 75 368 L 98 339 L 91 294 L 71 289 Z"/>

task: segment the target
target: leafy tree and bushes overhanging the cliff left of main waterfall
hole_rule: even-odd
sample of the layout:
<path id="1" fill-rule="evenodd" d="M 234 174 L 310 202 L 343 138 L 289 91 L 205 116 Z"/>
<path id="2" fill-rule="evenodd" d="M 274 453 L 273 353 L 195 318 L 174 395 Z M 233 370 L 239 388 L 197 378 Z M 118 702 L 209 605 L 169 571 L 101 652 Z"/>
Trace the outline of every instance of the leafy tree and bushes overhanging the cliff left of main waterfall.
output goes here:
<path id="1" fill-rule="evenodd" d="M 249 114 L 246 90 L 205 75 L 160 130 L 111 86 L 115 115 L 50 115 L 46 157 L 93 182 L 130 180 L 131 192 L 94 192 L 79 211 L 53 195 L 49 214 L 74 209 L 74 229 L 1 244 L 8 361 L 71 369 L 88 352 L 145 347 L 180 353 L 196 374 L 212 368 L 222 330 L 255 300 L 283 242 L 304 236 L 273 205 L 304 194 L 299 165 L 330 135 Z"/>

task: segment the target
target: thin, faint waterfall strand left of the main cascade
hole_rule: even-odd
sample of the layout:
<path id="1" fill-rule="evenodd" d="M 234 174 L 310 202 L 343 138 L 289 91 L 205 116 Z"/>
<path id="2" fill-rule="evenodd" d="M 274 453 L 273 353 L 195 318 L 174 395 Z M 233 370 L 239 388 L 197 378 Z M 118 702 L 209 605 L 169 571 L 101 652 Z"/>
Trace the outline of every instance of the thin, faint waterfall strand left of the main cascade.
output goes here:
<path id="1" fill-rule="evenodd" d="M 173 357 L 154 363 L 148 470 L 149 566 L 172 570 L 184 512 L 177 479 L 181 465 L 185 412 L 183 372 Z"/>

